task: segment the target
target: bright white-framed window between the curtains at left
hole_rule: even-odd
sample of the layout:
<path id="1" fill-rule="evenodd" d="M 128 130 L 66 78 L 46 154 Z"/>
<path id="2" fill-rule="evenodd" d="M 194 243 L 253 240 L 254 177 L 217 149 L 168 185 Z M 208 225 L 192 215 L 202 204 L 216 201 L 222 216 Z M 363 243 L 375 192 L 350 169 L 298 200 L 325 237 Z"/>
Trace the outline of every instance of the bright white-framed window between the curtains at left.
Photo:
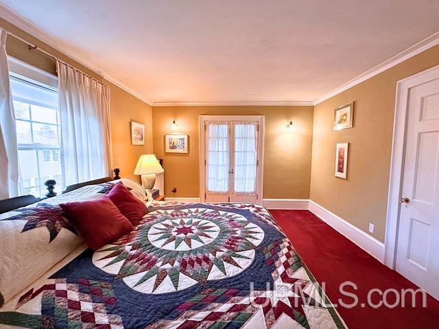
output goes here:
<path id="1" fill-rule="evenodd" d="M 16 63 L 14 63 L 16 64 Z M 25 66 L 25 64 L 22 64 Z M 44 183 L 56 179 L 61 189 L 60 119 L 56 88 L 14 73 L 10 66 L 10 83 L 14 102 L 19 166 L 24 194 L 44 195 Z M 45 75 L 47 80 L 47 73 Z M 43 79 L 44 81 L 44 79 Z"/>

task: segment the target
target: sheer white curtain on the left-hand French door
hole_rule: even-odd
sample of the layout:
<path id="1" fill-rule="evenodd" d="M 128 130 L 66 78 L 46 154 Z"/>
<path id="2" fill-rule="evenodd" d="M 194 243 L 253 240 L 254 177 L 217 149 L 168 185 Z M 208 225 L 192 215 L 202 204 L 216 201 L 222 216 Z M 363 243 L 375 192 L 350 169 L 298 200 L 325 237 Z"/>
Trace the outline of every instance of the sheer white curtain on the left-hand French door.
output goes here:
<path id="1" fill-rule="evenodd" d="M 207 122 L 207 191 L 228 192 L 229 136 L 228 123 Z"/>

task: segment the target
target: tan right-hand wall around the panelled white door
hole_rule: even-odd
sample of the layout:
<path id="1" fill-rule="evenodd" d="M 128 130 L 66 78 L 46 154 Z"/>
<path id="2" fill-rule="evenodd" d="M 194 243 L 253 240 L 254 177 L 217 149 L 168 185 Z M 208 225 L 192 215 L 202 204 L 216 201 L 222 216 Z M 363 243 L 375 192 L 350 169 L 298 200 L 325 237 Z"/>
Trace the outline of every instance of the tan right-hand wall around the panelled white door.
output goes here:
<path id="1" fill-rule="evenodd" d="M 311 199 L 384 241 L 396 82 L 439 64 L 439 46 L 314 108 Z M 354 127 L 333 132 L 333 110 L 355 101 Z M 335 143 L 350 143 L 348 178 L 335 178 Z"/>

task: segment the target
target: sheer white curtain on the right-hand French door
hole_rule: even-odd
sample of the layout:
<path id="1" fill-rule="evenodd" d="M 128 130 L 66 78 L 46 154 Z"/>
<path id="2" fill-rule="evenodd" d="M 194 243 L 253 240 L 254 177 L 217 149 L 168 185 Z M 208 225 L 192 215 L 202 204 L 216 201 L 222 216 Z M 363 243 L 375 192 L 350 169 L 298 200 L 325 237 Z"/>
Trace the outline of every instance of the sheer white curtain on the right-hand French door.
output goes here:
<path id="1" fill-rule="evenodd" d="M 235 125 L 236 193 L 256 193 L 257 183 L 257 123 Z"/>

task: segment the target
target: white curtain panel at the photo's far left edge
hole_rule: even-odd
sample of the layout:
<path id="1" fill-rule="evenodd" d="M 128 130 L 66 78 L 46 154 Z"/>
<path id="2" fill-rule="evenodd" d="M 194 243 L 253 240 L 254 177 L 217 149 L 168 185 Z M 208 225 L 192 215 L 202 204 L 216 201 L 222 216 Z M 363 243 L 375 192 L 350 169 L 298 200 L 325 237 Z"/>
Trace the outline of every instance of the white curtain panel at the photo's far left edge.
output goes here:
<path id="1" fill-rule="evenodd" d="M 19 195 L 19 160 L 14 105 L 6 56 L 6 31 L 0 41 L 0 199 Z"/>

